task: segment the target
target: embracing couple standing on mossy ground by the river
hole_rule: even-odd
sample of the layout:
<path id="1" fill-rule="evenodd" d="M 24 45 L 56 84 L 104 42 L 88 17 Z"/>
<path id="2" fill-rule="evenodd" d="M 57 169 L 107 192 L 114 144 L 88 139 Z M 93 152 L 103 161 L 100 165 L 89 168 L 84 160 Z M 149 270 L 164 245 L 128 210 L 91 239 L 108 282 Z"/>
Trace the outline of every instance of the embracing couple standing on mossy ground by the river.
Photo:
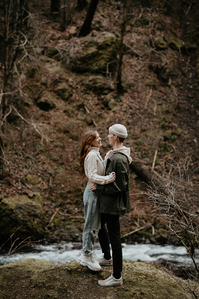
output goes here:
<path id="1" fill-rule="evenodd" d="M 100 286 L 122 285 L 119 216 L 130 211 L 128 164 L 132 161 L 130 148 L 123 146 L 127 135 L 126 127 L 121 124 L 109 127 L 108 138 L 113 150 L 107 152 L 104 161 L 99 153 L 102 144 L 98 132 L 87 131 L 82 139 L 79 168 L 81 178 L 87 177 L 89 181 L 84 191 L 85 225 L 79 260 L 81 265 L 94 271 L 100 271 L 101 265 L 113 266 L 113 274 L 98 281 Z M 104 254 L 98 261 L 93 251 L 96 237 Z"/>

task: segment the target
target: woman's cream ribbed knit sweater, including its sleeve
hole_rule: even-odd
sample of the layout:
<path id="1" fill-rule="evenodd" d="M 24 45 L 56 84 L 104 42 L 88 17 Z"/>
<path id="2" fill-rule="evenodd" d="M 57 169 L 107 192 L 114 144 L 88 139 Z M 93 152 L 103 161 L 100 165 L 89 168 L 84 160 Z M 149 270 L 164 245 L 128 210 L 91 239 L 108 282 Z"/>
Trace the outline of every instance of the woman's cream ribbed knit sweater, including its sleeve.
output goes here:
<path id="1" fill-rule="evenodd" d="M 91 147 L 91 149 L 100 155 L 98 147 Z M 87 178 L 93 183 L 101 185 L 115 181 L 112 173 L 109 176 L 103 176 L 104 164 L 95 152 L 90 151 L 84 160 L 84 170 Z"/>

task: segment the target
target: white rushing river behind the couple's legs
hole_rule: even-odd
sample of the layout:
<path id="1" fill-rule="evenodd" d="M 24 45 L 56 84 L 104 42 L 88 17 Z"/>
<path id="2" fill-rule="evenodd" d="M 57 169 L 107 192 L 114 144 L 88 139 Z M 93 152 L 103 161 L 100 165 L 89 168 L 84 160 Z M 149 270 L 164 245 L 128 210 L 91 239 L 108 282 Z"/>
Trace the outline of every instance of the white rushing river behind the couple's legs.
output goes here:
<path id="1" fill-rule="evenodd" d="M 75 249 L 78 248 L 78 249 Z M 50 245 L 34 245 L 24 247 L 23 252 L 16 252 L 7 258 L 3 258 L 0 255 L 0 264 L 5 265 L 7 263 L 16 262 L 24 258 L 30 257 L 35 259 L 47 260 L 50 263 L 68 263 L 71 261 L 78 262 L 78 257 L 81 255 L 81 243 L 61 242 Z M 36 250 L 36 251 L 35 251 Z M 102 252 L 99 243 L 95 243 L 95 254 L 99 259 L 102 257 Z M 28 252 L 27 252 L 28 251 Z M 30 253 L 30 251 L 35 251 Z M 155 262 L 158 260 L 168 260 L 174 265 L 182 266 L 183 260 L 189 263 L 189 255 L 186 249 L 183 247 L 175 247 L 172 245 L 153 245 L 153 244 L 136 244 L 127 245 L 122 243 L 123 259 L 125 260 L 141 260 L 143 262 Z M 2 259 L 2 260 L 1 260 Z"/>

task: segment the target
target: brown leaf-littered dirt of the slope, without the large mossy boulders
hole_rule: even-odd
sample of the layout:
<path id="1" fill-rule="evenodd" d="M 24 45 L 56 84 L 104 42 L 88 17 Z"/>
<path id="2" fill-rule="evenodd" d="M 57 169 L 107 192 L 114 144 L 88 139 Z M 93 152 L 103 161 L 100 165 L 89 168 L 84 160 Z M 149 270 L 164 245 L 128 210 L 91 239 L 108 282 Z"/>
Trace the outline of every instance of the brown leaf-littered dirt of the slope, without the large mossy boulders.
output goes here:
<path id="1" fill-rule="evenodd" d="M 72 34 L 81 26 L 86 11 L 76 13 L 64 32 L 60 31 L 59 22 L 46 23 L 40 31 L 32 25 L 36 30 L 34 34 L 31 31 L 31 36 L 36 42 L 37 54 L 29 49 L 34 60 L 27 59 L 21 66 L 21 83 L 27 83 L 24 93 L 29 99 L 24 103 L 15 97 L 14 105 L 27 120 L 43 124 L 41 128 L 46 139 L 13 112 L 8 119 L 9 139 L 5 149 L 10 164 L 0 188 L 1 198 L 16 193 L 28 194 L 29 190 L 40 192 L 44 197 L 47 224 L 55 208 L 60 207 L 48 228 L 49 240 L 81 240 L 86 181 L 80 181 L 78 164 L 81 136 L 86 130 L 98 130 L 104 157 L 110 149 L 107 129 L 113 123 L 124 124 L 128 130 L 125 145 L 131 148 L 133 158 L 142 159 L 150 166 L 158 150 L 155 164 L 158 173 L 162 168 L 167 169 L 160 158 L 165 155 L 175 158 L 170 144 L 182 153 L 182 157 L 184 152 L 193 154 L 199 141 L 198 45 L 194 39 L 198 4 L 194 3 L 187 15 L 186 2 L 181 4 L 177 14 L 174 4 L 168 8 L 166 1 L 155 1 L 149 9 L 148 2 L 143 3 L 141 16 L 140 5 L 133 8 L 124 38 L 122 80 L 125 92 L 120 96 L 116 94 L 116 69 L 109 67 L 107 76 L 107 70 L 77 73 L 64 59 L 57 61 L 49 57 L 48 47 L 60 43 L 64 47 L 69 44 L 84 46 L 84 39 L 74 38 Z M 119 39 L 116 16 L 119 20 L 122 18 L 121 13 L 116 12 L 115 2 L 101 1 L 93 20 L 93 31 L 87 39 L 107 31 Z M 48 21 L 47 16 L 42 18 Z M 58 89 L 68 93 L 59 94 Z M 41 105 L 39 108 L 38 103 L 42 101 L 50 102 L 49 111 L 42 110 Z M 149 221 L 155 227 L 155 239 L 149 227 L 124 241 L 133 242 L 134 238 L 138 242 L 146 239 L 156 243 L 170 242 L 155 213 L 151 213 L 147 205 L 134 205 L 135 201 L 143 200 L 144 196 L 138 193 L 145 187 L 142 179 L 132 170 L 130 172 L 132 212 L 122 218 L 121 233 Z M 27 182 L 28 173 L 38 179 L 36 185 Z"/>

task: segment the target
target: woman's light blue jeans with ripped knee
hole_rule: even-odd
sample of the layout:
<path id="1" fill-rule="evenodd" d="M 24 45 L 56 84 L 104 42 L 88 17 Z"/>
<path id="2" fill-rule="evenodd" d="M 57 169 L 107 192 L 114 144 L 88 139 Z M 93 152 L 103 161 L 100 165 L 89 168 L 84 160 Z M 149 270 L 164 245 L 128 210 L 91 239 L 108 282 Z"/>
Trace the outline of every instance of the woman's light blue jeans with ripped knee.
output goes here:
<path id="1" fill-rule="evenodd" d="M 98 237 L 98 231 L 101 224 L 100 207 L 100 192 L 90 190 L 90 184 L 84 191 L 84 217 L 85 224 L 82 235 L 83 240 L 83 254 L 91 254 L 95 243 L 96 237 Z"/>

